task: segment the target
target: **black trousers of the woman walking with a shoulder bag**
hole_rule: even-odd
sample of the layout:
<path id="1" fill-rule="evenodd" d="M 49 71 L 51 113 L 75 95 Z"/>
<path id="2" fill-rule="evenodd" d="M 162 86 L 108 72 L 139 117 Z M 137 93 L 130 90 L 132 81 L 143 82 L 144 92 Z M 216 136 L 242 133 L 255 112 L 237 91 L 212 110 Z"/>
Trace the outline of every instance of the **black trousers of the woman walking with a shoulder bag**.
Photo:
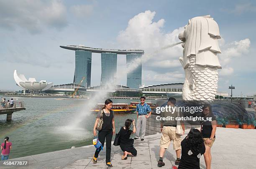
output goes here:
<path id="1" fill-rule="evenodd" d="M 104 146 L 104 142 L 106 139 L 106 163 L 110 162 L 110 154 L 111 154 L 111 141 L 112 141 L 113 131 L 99 131 L 98 138 L 102 144 L 102 147 Z M 100 153 L 101 147 L 97 148 L 94 154 L 94 157 L 98 157 Z"/>

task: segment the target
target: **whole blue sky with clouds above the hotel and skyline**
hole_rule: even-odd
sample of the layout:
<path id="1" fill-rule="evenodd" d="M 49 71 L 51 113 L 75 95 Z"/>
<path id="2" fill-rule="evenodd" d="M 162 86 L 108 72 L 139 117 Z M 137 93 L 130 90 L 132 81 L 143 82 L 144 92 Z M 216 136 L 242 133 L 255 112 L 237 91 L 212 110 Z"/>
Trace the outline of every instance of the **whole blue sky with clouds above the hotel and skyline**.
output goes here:
<path id="1" fill-rule="evenodd" d="M 55 85 L 74 76 L 74 51 L 59 45 L 142 49 L 142 83 L 184 82 L 177 35 L 192 17 L 211 15 L 220 28 L 218 91 L 256 93 L 256 2 L 253 0 L 0 0 L 0 89 L 20 89 L 14 70 Z M 157 52 L 156 52 L 157 51 Z M 118 55 L 118 71 L 125 69 Z M 121 72 L 121 71 L 120 71 Z M 123 72 L 123 71 L 122 71 Z M 100 54 L 92 54 L 91 86 L 100 84 Z M 126 85 L 126 75 L 118 79 Z"/>

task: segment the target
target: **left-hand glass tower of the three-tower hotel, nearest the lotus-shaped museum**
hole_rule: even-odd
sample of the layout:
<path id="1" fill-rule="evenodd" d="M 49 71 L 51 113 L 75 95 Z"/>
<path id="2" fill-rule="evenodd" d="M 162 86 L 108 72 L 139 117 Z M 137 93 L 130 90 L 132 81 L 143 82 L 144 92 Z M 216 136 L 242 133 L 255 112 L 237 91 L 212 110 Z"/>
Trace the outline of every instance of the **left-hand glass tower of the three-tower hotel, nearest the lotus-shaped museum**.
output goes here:
<path id="1" fill-rule="evenodd" d="M 91 67 L 92 67 L 92 52 L 85 50 L 76 50 L 75 52 L 75 72 L 74 84 L 79 84 L 83 77 L 85 79 L 81 86 L 91 86 Z"/>

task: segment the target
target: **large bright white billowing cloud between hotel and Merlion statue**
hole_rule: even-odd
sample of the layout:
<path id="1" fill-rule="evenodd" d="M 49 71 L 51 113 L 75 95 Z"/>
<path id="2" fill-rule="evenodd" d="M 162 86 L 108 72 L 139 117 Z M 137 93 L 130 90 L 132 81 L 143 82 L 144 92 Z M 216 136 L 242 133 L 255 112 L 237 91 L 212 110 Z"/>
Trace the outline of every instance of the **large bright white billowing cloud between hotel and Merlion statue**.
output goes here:
<path id="1" fill-rule="evenodd" d="M 118 43 L 125 49 L 144 50 L 143 55 L 143 83 L 161 82 L 170 83 L 178 81 L 183 71 L 175 72 L 173 68 L 181 69 L 178 58 L 182 56 L 181 45 L 166 47 L 173 43 L 180 42 L 178 35 L 184 30 L 183 27 L 172 32 L 165 33 L 164 19 L 154 22 L 156 12 L 146 10 L 129 20 L 125 30 L 119 32 Z M 163 72 L 164 68 L 164 73 Z M 146 75 L 144 70 L 150 70 L 150 75 Z M 161 72 L 161 73 L 160 73 Z M 172 77 L 168 77 L 172 76 Z M 148 77 L 151 77 L 148 79 Z M 153 81 L 152 81 L 153 80 Z M 182 80 L 183 81 L 183 80 Z"/>

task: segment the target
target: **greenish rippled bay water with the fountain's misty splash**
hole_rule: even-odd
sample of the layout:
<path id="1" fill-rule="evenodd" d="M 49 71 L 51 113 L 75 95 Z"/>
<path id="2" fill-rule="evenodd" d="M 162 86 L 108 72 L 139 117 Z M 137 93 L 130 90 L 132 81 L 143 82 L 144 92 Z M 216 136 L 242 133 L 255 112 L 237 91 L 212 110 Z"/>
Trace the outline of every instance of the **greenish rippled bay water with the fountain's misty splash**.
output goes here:
<path id="1" fill-rule="evenodd" d="M 11 122 L 6 122 L 6 115 L 0 115 L 0 141 L 3 142 L 4 137 L 8 136 L 13 143 L 10 158 L 92 144 L 96 113 L 84 114 L 79 124 L 72 125 L 77 115 L 83 113 L 86 100 L 13 97 L 16 98 L 24 101 L 26 110 L 14 112 Z M 99 103 L 104 101 L 101 99 Z M 113 102 L 130 103 L 139 100 L 113 99 Z M 154 103 L 154 100 L 148 102 Z M 136 114 L 115 114 L 116 132 L 119 132 L 128 118 L 136 119 Z"/>

